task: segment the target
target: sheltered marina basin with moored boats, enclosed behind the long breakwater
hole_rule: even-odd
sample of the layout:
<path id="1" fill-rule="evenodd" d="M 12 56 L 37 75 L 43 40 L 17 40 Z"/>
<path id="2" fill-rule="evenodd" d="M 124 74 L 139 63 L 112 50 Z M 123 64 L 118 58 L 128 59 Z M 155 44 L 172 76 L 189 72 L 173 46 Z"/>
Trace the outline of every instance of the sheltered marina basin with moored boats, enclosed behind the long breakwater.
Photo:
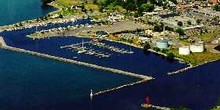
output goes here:
<path id="1" fill-rule="evenodd" d="M 85 19 L 76 21 L 74 24 L 87 24 L 88 22 L 90 21 Z M 64 23 L 60 25 L 68 26 Z M 56 26 L 57 25 L 39 26 L 38 31 L 51 29 Z M 146 56 L 142 49 L 106 40 L 91 43 L 91 38 L 80 38 L 75 36 L 54 36 L 49 39 L 32 39 L 26 37 L 26 35 L 29 35 L 35 31 L 36 28 L 28 28 L 17 31 L 4 31 L 1 32 L 0 35 L 4 38 L 6 44 L 11 47 L 50 54 L 67 59 L 77 59 L 79 61 L 92 63 L 103 67 L 115 68 L 153 77 L 163 77 L 168 72 L 176 71 L 187 66 L 186 64 L 180 64 L 177 60 L 175 60 L 173 63 L 169 63 L 166 59 L 162 59 L 153 53 L 149 54 L 149 56 Z M 82 48 L 82 39 L 84 40 L 84 49 Z M 71 49 L 67 49 L 65 46 L 68 48 L 71 47 Z M 80 48 L 77 48 L 77 46 Z M 88 56 L 91 56 L 91 58 Z M 108 60 L 99 60 L 100 58 L 105 58 Z M 155 62 L 155 59 L 161 61 Z M 143 61 L 146 62 L 142 63 Z M 151 62 L 153 62 L 153 64 Z M 134 67 L 134 64 L 137 65 L 138 68 Z"/>

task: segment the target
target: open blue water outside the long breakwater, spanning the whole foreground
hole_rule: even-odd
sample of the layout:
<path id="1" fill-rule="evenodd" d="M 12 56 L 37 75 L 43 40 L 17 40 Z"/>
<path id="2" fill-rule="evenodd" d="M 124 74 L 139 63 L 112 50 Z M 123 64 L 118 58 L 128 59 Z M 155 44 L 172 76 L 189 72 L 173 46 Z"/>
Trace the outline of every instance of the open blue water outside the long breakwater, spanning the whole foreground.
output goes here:
<path id="1" fill-rule="evenodd" d="M 220 98 L 220 61 L 89 100 L 103 90 L 135 79 L 0 50 L 0 108 L 3 110 L 140 110 L 149 96 L 155 105 L 207 110 Z M 211 71 L 210 71 L 211 70 Z"/>

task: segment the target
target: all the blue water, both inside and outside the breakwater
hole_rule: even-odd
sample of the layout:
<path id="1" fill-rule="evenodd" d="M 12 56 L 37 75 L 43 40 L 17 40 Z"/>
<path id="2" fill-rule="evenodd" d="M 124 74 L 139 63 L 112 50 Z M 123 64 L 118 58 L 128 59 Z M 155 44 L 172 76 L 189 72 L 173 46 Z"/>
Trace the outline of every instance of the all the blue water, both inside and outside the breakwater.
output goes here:
<path id="1" fill-rule="evenodd" d="M 53 8 L 42 9 L 40 0 L 0 0 L 0 25 L 32 19 Z M 31 9 L 31 10 L 29 10 Z M 80 21 L 78 23 L 83 23 Z M 85 21 L 86 23 L 88 21 Z M 39 29 L 67 26 L 72 23 L 49 25 Z M 77 54 L 58 47 L 80 42 L 79 38 L 31 40 L 25 38 L 30 30 L 0 33 L 7 43 L 42 53 L 72 58 Z M 60 43 L 63 42 L 63 43 Z M 106 42 L 112 44 L 111 42 Z M 121 44 L 119 47 L 130 48 Z M 207 110 L 220 97 L 220 61 L 200 66 L 180 75 L 166 76 L 168 71 L 186 65 L 167 60 L 152 53 L 147 56 L 132 48 L 135 55 L 113 53 L 113 57 L 96 59 L 86 55 L 78 60 L 156 76 L 154 81 L 95 97 L 91 102 L 89 90 L 95 91 L 121 85 L 136 79 L 81 66 L 64 64 L 31 55 L 0 50 L 0 109 L 1 110 L 140 110 L 146 96 L 161 106 L 185 106 Z M 63 54 L 61 54 L 63 53 Z M 137 59 L 137 60 L 136 60 Z M 132 64 L 132 65 L 131 65 Z M 134 66 L 135 65 L 135 66 Z M 163 77 L 161 77 L 163 76 Z"/>

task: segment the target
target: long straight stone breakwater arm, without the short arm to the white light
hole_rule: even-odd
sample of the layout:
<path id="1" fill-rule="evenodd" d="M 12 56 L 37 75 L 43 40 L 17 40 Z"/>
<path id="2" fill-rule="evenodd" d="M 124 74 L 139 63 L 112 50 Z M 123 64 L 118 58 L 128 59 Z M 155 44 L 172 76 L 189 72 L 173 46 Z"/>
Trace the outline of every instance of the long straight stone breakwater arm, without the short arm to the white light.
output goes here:
<path id="1" fill-rule="evenodd" d="M 126 76 L 131 76 L 131 77 L 139 78 L 139 79 L 142 79 L 142 80 L 152 80 L 153 79 L 152 77 L 145 76 L 145 75 L 140 75 L 140 74 L 136 74 L 136 73 L 132 73 L 132 72 L 126 72 L 126 71 L 113 69 L 113 68 L 108 68 L 108 67 L 102 67 L 102 66 L 95 65 L 95 64 L 90 64 L 90 63 L 81 62 L 81 61 L 75 61 L 75 60 L 62 58 L 62 57 L 57 57 L 57 56 L 52 56 L 52 55 L 48 55 L 48 54 L 42 54 L 42 53 L 29 51 L 29 50 L 25 50 L 25 49 L 20 49 L 20 48 L 15 48 L 15 47 L 10 47 L 10 46 L 4 46 L 3 48 L 7 49 L 7 50 L 12 50 L 12 51 L 21 52 L 21 53 L 27 53 L 27 54 L 31 54 L 31 55 L 35 55 L 35 56 L 39 56 L 39 57 L 43 57 L 43 58 L 49 58 L 49 59 L 54 59 L 54 60 L 58 60 L 58 61 L 62 61 L 62 62 L 73 63 L 73 64 L 78 64 L 78 65 L 87 66 L 87 67 L 91 67 L 91 68 L 110 71 L 110 72 L 113 72 L 113 73 L 118 73 L 118 74 L 122 74 L 122 75 L 126 75 Z"/>

